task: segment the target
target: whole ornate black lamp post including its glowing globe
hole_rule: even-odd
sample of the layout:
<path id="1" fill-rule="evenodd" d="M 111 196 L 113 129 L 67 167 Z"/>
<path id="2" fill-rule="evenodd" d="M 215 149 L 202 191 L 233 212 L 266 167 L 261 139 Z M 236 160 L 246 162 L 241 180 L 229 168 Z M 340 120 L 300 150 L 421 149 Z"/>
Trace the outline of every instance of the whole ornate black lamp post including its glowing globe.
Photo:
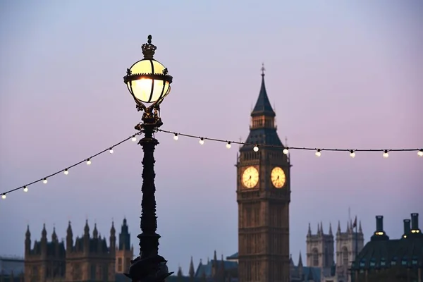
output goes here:
<path id="1" fill-rule="evenodd" d="M 154 60 L 157 47 L 152 44 L 152 36 L 148 36 L 146 44 L 142 44 L 144 59 L 137 61 L 128 68 L 123 81 L 133 96 L 138 111 L 143 111 L 142 123 L 135 126 L 136 130 L 144 133 L 138 142 L 144 151 L 142 159 L 142 202 L 141 202 L 141 231 L 140 256 L 131 261 L 129 274 L 125 274 L 133 282 L 161 282 L 173 274 L 168 272 L 166 259 L 159 252 L 159 238 L 156 216 L 156 187 L 154 186 L 154 149 L 159 142 L 153 134 L 163 123 L 160 118 L 160 104 L 171 92 L 172 77 L 168 70 Z"/>

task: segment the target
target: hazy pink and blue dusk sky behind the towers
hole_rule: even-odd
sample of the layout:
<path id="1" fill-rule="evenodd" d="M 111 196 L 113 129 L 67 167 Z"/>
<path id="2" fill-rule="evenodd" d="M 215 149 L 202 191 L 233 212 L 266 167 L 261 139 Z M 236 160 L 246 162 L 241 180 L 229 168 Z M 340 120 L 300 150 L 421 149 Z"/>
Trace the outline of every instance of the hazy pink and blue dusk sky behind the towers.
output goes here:
<path id="1" fill-rule="evenodd" d="M 372 2 L 372 3 L 370 3 Z M 162 129 L 223 140 L 247 137 L 266 68 L 278 135 L 288 145 L 423 147 L 420 1 L 0 1 L 0 192 L 37 180 L 135 133 L 141 114 L 123 84 L 147 35 L 173 75 Z M 159 252 L 188 272 L 237 252 L 237 146 L 157 133 Z M 23 256 L 43 223 L 65 238 L 85 219 L 109 237 L 128 219 L 137 252 L 142 149 L 125 142 L 0 200 L 0 255 Z M 291 152 L 290 252 L 305 254 L 308 223 L 343 230 L 376 215 L 392 238 L 419 212 L 416 152 Z M 91 229 L 92 230 L 92 229 Z"/>

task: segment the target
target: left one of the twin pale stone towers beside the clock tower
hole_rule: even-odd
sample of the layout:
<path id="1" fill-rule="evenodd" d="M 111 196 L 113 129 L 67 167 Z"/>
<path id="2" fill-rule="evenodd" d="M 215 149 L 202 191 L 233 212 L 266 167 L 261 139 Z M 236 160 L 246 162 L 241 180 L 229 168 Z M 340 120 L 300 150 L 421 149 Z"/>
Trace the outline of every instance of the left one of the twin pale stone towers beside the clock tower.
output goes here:
<path id="1" fill-rule="evenodd" d="M 333 233 L 329 223 L 329 233 L 323 231 L 323 224 L 317 224 L 317 233 L 312 233 L 309 225 L 307 232 L 307 266 L 323 269 L 331 268 L 335 259 L 333 257 Z"/>

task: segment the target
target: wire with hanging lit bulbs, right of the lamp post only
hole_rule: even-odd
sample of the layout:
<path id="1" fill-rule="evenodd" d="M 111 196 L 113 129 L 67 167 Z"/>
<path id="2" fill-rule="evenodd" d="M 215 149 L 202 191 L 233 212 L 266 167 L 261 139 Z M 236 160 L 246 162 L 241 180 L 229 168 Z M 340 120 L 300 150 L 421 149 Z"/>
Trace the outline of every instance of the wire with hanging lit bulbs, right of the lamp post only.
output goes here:
<path id="1" fill-rule="evenodd" d="M 169 130 L 162 130 L 157 129 L 157 131 L 160 131 L 162 133 L 169 133 L 173 134 L 173 139 L 178 140 L 179 136 L 185 136 L 190 138 L 196 138 L 199 139 L 200 145 L 204 145 L 204 140 L 210 140 L 215 142 L 225 142 L 226 148 L 231 149 L 231 144 L 238 144 L 238 145 L 247 145 L 252 146 L 252 149 L 254 152 L 258 152 L 260 147 L 271 147 L 271 148 L 278 148 L 282 149 L 284 154 L 288 154 L 289 150 L 308 150 L 308 151 L 316 151 L 316 157 L 321 156 L 322 151 L 332 151 L 332 152 L 349 152 L 350 157 L 355 157 L 355 152 L 383 152 L 382 156 L 384 158 L 389 157 L 389 152 L 417 152 L 417 155 L 419 157 L 423 157 L 423 149 L 333 149 L 333 148 L 313 148 L 313 147 L 293 147 L 293 146 L 276 146 L 276 145 L 266 145 L 266 144 L 253 144 L 253 143 L 246 143 L 246 142 L 239 142 L 239 141 L 231 141 L 231 140 L 223 140 L 223 139 L 217 139 L 212 137 L 202 137 L 197 135 L 190 135 L 185 133 L 176 133 Z"/>

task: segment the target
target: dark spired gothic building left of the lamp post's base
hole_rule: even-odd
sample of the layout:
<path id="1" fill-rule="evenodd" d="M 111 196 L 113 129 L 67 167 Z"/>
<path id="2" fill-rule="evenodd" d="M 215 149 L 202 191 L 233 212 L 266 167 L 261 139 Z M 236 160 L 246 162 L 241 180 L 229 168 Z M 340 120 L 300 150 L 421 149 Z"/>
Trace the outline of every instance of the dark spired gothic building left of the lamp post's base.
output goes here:
<path id="1" fill-rule="evenodd" d="M 75 240 L 69 222 L 66 241 L 58 240 L 55 228 L 49 241 L 44 224 L 41 240 L 35 240 L 33 247 L 28 226 L 25 233 L 25 282 L 128 281 L 123 272 L 128 271 L 126 262 L 133 258 L 133 247 L 129 248 L 129 245 L 126 219 L 123 219 L 118 247 L 113 222 L 109 238 L 106 238 L 99 234 L 95 223 L 90 234 L 90 226 L 85 221 L 84 233 Z M 120 269 L 116 268 L 116 261 L 123 262 Z"/>

